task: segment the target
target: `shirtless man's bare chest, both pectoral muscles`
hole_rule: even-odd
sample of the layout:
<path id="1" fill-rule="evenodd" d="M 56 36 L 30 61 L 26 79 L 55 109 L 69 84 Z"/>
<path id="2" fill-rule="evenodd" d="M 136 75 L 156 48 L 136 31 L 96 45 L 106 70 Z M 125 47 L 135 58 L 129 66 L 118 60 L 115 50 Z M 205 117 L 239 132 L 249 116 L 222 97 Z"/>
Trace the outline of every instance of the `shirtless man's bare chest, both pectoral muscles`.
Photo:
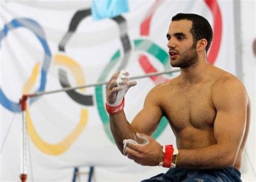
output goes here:
<path id="1" fill-rule="evenodd" d="M 213 127 L 216 111 L 211 103 L 211 89 L 176 89 L 163 101 L 164 114 L 174 130 L 186 127 Z"/>

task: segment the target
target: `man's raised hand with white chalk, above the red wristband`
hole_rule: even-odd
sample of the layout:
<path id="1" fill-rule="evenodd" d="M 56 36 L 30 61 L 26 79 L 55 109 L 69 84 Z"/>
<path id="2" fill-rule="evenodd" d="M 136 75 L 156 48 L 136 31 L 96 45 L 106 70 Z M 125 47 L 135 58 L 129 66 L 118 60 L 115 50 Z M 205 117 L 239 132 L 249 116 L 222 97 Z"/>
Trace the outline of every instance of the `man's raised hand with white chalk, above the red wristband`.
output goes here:
<path id="1" fill-rule="evenodd" d="M 137 85 L 137 82 L 130 81 L 128 76 L 129 73 L 122 70 L 113 74 L 109 82 L 107 82 L 106 102 L 109 106 L 119 106 L 129 88 Z"/>

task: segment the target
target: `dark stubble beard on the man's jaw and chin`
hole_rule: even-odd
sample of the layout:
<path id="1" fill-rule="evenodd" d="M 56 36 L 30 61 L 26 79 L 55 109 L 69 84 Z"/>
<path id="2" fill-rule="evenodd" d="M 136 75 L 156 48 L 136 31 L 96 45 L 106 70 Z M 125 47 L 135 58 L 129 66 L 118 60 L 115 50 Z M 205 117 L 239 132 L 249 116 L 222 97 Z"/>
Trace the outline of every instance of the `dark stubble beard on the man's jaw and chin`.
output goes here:
<path id="1" fill-rule="evenodd" d="M 179 67 L 181 69 L 189 69 L 196 66 L 198 63 L 198 53 L 196 51 L 196 45 L 192 45 L 191 48 L 180 55 L 177 62 L 171 60 L 172 67 Z"/>

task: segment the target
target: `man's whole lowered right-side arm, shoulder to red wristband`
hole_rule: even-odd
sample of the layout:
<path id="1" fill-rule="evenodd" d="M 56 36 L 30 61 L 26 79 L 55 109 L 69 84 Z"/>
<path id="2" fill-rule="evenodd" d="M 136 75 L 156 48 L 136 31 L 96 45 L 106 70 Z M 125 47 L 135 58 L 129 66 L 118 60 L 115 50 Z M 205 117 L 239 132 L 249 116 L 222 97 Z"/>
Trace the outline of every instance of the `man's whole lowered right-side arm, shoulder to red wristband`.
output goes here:
<path id="1" fill-rule="evenodd" d="M 198 149 L 179 150 L 177 166 L 189 169 L 233 167 L 246 126 L 247 93 L 237 79 L 215 83 L 212 103 L 217 110 L 214 135 L 217 144 Z"/>

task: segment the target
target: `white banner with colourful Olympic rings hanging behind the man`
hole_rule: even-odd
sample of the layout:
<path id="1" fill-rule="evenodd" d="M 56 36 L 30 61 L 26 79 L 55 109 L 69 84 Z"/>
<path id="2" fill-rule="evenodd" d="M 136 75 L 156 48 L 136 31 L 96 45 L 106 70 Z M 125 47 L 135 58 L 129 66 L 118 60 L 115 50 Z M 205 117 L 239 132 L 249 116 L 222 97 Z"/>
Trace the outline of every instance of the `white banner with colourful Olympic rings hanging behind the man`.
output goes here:
<path id="1" fill-rule="evenodd" d="M 18 100 L 23 94 L 107 81 L 120 69 L 131 76 L 173 69 L 166 33 L 171 17 L 178 12 L 198 13 L 209 20 L 214 37 L 208 61 L 235 74 L 232 1 L 125 2 L 129 7 L 125 12 L 99 20 L 92 18 L 91 1 L 1 3 L 1 181 L 17 181 L 20 173 Z M 176 75 L 137 80 L 138 85 L 126 95 L 128 120 L 142 109 L 152 87 Z M 120 154 L 110 131 L 105 99 L 106 86 L 98 86 L 29 100 L 26 147 L 30 180 L 71 181 L 76 166 L 103 167 L 106 171 L 96 174 L 100 181 L 120 181 L 129 172 L 133 175 L 129 180 L 138 181 L 165 171 L 139 166 Z M 175 143 L 166 118 L 153 137 L 161 144 Z M 116 170 L 117 176 L 111 176 L 108 169 Z"/>

